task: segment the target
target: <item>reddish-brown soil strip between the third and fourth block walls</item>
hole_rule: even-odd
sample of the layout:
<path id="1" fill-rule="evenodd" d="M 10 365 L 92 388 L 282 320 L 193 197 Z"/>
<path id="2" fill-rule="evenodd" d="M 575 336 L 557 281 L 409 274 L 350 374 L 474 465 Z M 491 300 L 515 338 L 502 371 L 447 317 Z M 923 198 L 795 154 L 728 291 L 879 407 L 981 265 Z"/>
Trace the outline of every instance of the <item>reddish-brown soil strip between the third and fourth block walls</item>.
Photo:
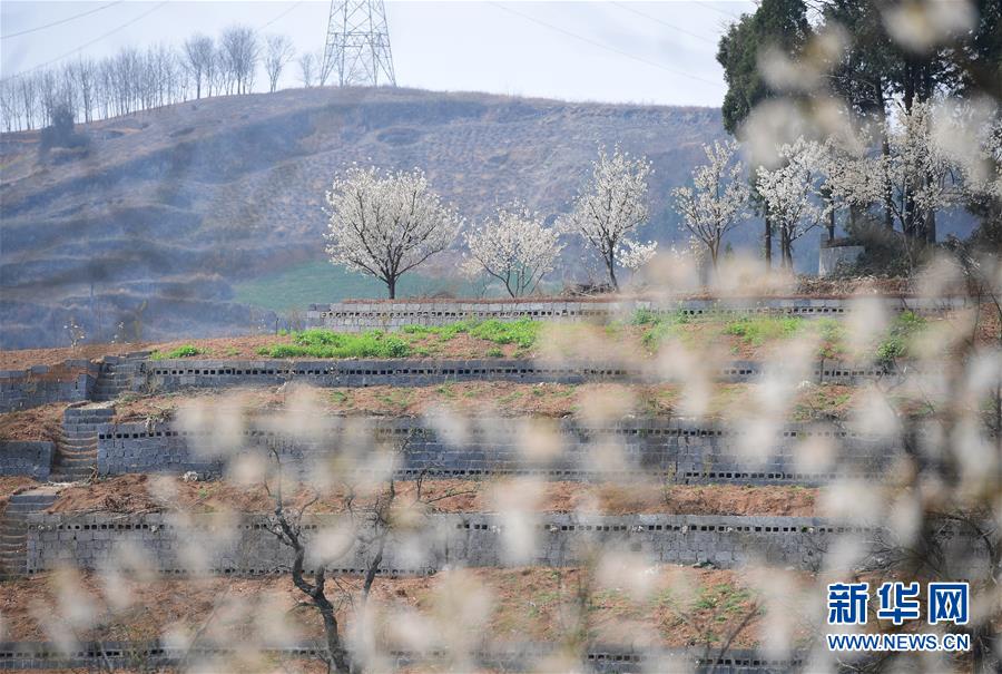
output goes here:
<path id="1" fill-rule="evenodd" d="M 484 512 L 497 509 L 498 496 L 512 482 L 471 480 L 425 480 L 421 500 L 426 508 L 440 512 Z M 730 485 L 664 487 L 650 483 L 586 485 L 580 482 L 537 482 L 533 506 L 539 511 L 573 510 L 630 515 L 664 512 L 686 515 L 789 515 L 812 516 L 817 500 L 816 489 L 800 487 L 740 487 Z M 416 482 L 395 483 L 399 504 L 414 502 Z M 385 490 L 379 485 L 372 491 L 355 490 L 355 505 L 363 507 Z M 165 500 L 165 496 L 169 495 Z M 345 491 L 334 488 L 317 495 L 312 489 L 286 491 L 295 507 L 320 496 L 311 512 L 336 512 L 345 506 Z M 179 478 L 127 475 L 92 485 L 68 487 L 60 491 L 50 512 L 143 512 L 179 508 L 196 512 L 237 510 L 266 512 L 274 508 L 263 487 L 247 487 L 226 481 L 185 482 Z"/>

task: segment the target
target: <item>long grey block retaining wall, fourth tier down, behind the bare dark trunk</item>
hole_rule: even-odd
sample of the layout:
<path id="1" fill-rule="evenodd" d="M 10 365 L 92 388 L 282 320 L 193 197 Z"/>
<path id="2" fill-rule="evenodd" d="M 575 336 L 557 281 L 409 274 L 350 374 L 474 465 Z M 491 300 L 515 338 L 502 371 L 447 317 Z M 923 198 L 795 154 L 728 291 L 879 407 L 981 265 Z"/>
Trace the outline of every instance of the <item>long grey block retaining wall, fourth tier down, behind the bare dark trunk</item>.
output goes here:
<path id="1" fill-rule="evenodd" d="M 341 521 L 333 515 L 307 517 L 304 531 L 306 536 L 327 528 L 333 531 Z M 145 557 L 150 568 L 165 574 L 272 574 L 287 568 L 291 556 L 268 530 L 268 522 L 267 516 L 246 516 L 233 524 L 214 515 L 31 515 L 27 569 L 36 574 L 63 564 L 109 568 L 128 550 L 129 559 Z M 495 515 L 431 515 L 410 533 L 391 534 L 381 572 L 414 576 L 446 566 L 567 567 L 581 564 L 595 546 L 640 553 L 660 564 L 710 563 L 731 568 L 758 559 L 814 570 L 832 538 L 847 531 L 807 517 L 540 514 L 532 529 L 532 549 L 514 558 L 509 556 L 504 527 Z M 365 544 L 356 543 L 346 555 L 327 560 L 327 568 L 360 574 L 371 555 Z M 308 553 L 306 566 L 316 564 Z"/>

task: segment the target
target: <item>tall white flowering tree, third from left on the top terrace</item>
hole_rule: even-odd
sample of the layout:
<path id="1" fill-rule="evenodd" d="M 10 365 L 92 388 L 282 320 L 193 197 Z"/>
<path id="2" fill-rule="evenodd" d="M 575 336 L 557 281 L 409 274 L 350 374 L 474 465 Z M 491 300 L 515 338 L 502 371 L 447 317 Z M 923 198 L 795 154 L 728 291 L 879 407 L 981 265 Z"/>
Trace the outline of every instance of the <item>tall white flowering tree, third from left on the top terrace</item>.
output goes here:
<path id="1" fill-rule="evenodd" d="M 645 157 L 631 158 L 617 147 L 599 150 L 591 182 L 577 196 L 561 228 L 579 234 L 602 258 L 612 287 L 619 290 L 617 267 L 636 270 L 649 261 L 656 242 L 640 243 L 632 234 L 647 222 L 647 178 L 651 166 Z"/>

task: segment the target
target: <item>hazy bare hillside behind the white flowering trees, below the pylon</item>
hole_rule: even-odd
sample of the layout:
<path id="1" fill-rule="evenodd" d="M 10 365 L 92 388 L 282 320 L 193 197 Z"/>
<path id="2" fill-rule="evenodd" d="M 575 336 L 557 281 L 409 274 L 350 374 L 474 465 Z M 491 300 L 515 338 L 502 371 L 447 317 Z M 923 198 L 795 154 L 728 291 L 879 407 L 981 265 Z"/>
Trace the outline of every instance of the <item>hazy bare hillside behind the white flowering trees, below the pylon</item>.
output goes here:
<path id="1" fill-rule="evenodd" d="M 37 133 L 0 143 L 3 348 L 65 344 L 70 319 L 88 341 L 267 331 L 275 316 L 243 302 L 357 294 L 369 286 L 333 267 L 303 285 L 318 279 L 324 188 L 352 162 L 423 167 L 468 221 L 513 199 L 552 215 L 597 146 L 619 143 L 654 162 L 648 235 L 670 241 L 670 188 L 724 133 L 708 108 L 406 89 L 220 97 L 78 130 L 89 138 L 81 155 L 42 156 Z M 323 296 L 258 301 L 273 274 Z M 462 287 L 415 281 L 411 292 Z"/>

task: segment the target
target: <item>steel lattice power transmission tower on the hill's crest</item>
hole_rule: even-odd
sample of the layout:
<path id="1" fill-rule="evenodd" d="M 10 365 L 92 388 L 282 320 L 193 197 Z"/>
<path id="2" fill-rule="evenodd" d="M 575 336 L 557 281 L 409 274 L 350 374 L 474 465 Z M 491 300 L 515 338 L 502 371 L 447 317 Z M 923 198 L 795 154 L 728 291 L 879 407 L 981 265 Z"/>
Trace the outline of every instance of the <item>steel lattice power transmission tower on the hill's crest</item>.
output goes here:
<path id="1" fill-rule="evenodd" d="M 331 0 L 321 81 L 341 87 L 396 86 L 383 0 Z"/>

